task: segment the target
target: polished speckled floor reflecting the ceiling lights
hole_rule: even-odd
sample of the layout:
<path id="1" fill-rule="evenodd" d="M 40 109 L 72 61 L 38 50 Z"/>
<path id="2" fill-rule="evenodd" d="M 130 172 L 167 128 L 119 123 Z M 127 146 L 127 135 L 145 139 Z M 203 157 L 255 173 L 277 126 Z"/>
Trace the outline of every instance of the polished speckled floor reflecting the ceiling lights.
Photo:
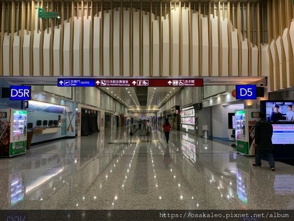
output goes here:
<path id="1" fill-rule="evenodd" d="M 294 167 L 231 146 L 124 127 L 0 159 L 0 209 L 294 209 Z"/>

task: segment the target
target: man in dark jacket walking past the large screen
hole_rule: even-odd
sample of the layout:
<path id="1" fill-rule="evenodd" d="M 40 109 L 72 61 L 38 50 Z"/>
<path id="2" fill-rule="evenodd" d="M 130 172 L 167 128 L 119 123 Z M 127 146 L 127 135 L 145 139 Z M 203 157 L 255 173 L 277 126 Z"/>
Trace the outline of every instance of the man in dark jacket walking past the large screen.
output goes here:
<path id="1" fill-rule="evenodd" d="M 260 113 L 260 120 L 255 123 L 255 147 L 257 154 L 255 156 L 255 167 L 261 167 L 261 157 L 266 154 L 268 157 L 270 170 L 274 171 L 274 159 L 272 156 L 272 125 L 266 121 L 266 114 Z"/>

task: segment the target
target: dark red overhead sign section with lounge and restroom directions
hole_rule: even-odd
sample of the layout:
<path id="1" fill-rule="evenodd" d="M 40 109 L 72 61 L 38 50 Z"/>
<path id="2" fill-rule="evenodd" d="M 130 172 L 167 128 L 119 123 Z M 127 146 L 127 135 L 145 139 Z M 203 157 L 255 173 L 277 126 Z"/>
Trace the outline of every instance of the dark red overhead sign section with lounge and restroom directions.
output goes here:
<path id="1" fill-rule="evenodd" d="M 95 79 L 96 86 L 99 87 L 202 87 L 203 79 Z"/>

